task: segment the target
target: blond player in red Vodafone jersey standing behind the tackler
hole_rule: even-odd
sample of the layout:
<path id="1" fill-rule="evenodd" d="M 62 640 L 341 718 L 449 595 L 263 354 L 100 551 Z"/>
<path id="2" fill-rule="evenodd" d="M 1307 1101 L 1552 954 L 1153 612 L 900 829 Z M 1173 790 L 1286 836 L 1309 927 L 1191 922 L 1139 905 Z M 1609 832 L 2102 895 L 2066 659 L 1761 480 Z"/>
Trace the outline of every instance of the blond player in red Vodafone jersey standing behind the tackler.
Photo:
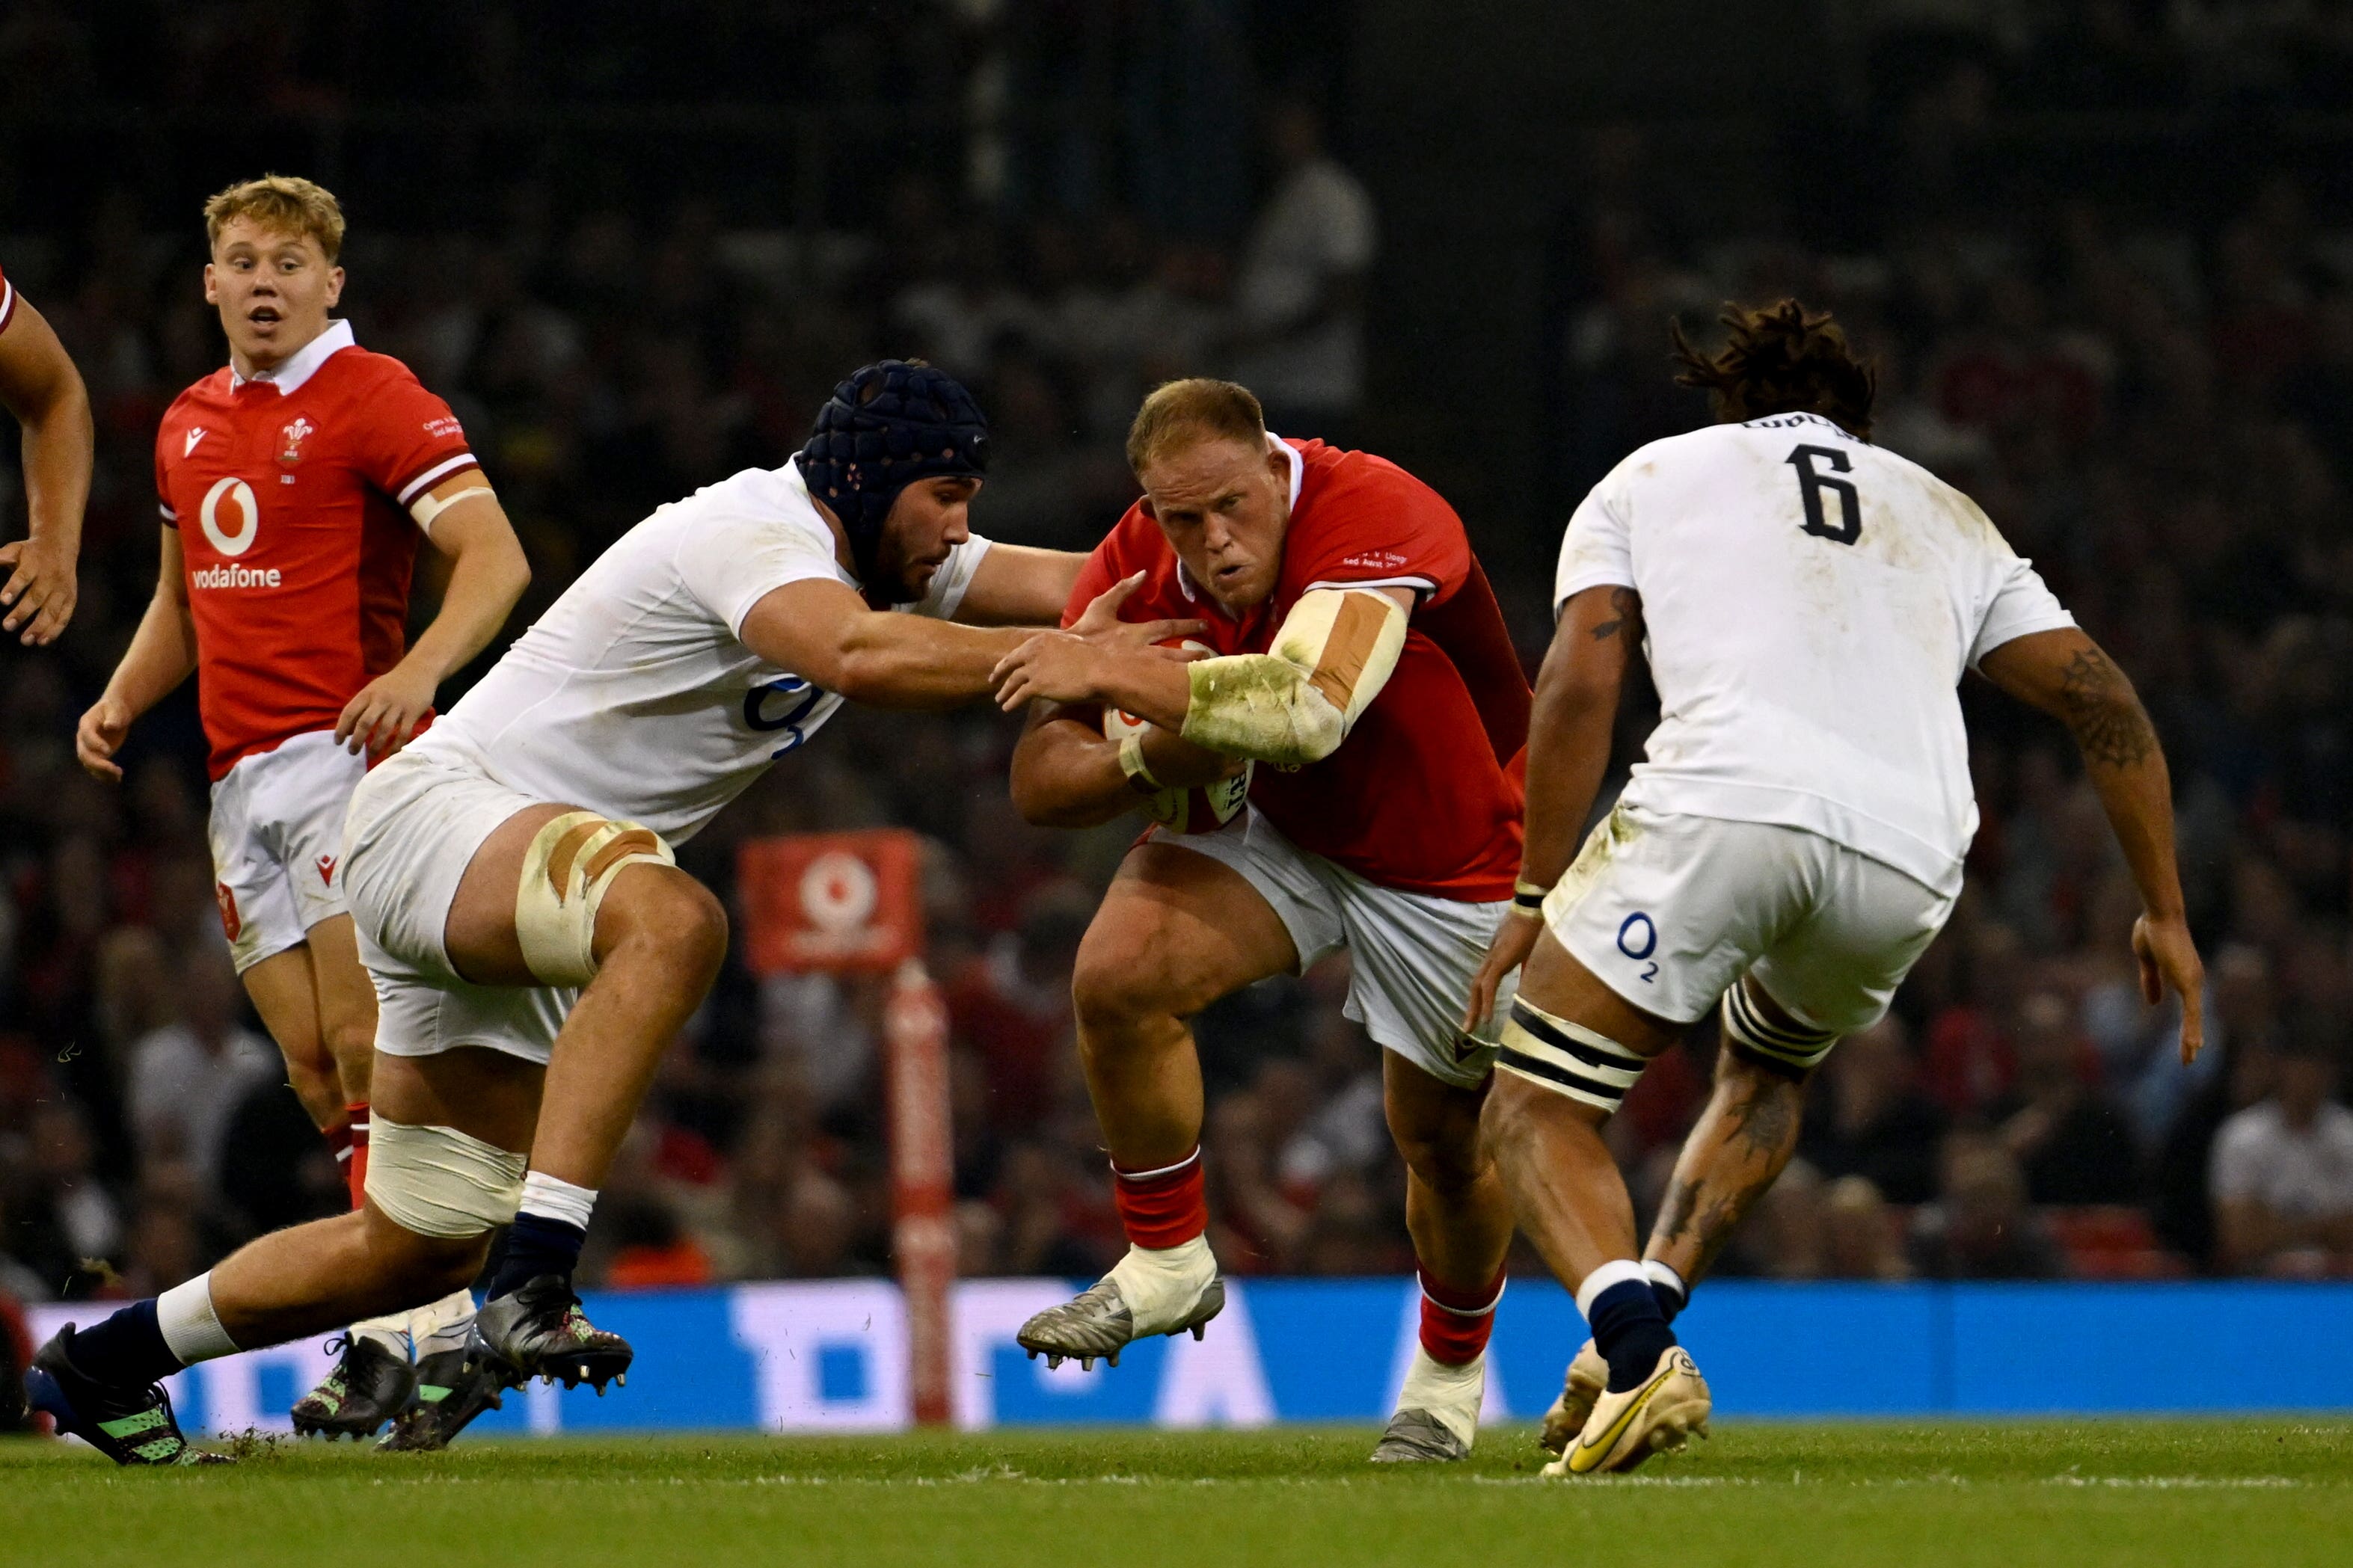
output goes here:
<path id="1" fill-rule="evenodd" d="M 205 235 L 228 364 L 181 393 L 155 435 L 162 569 L 78 750 L 120 778 L 132 722 L 198 677 L 221 926 L 360 1208 L 376 997 L 336 877 L 344 809 L 506 623 L 529 567 L 449 404 L 327 315 L 344 292 L 334 195 L 278 174 L 245 181 L 205 205 Z M 419 538 L 449 557 L 449 585 L 405 646 Z M 416 1340 L 471 1312 L 456 1291 L 355 1326 L 294 1406 L 296 1432 L 381 1427 L 414 1392 Z"/>

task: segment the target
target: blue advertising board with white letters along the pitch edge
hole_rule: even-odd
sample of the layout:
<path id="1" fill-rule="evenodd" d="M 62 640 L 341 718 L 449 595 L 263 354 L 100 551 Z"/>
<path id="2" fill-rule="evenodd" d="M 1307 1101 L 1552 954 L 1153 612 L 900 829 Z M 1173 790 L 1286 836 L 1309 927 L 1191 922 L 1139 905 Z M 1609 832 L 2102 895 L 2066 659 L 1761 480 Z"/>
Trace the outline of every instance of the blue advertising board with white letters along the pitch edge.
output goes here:
<path id="1" fill-rule="evenodd" d="M 1377 1422 L 1419 1321 L 1409 1279 L 1240 1279 L 1205 1340 L 1148 1340 L 1118 1368 L 1047 1368 L 1014 1345 L 1059 1279 L 969 1279 L 953 1302 L 955 1420 L 1264 1427 Z M 47 1335 L 92 1305 L 35 1307 Z M 588 1314 L 638 1347 L 626 1389 L 532 1385 L 482 1434 L 598 1429 L 889 1432 L 906 1425 L 906 1309 L 880 1279 L 607 1293 Z M 2217 1335 L 2214 1324 L 2228 1324 Z M 2353 1286 L 2334 1284 L 1755 1284 L 1715 1281 L 1675 1324 L 1718 1415 L 2052 1415 L 2353 1408 Z M 1487 1420 L 1532 1420 L 1586 1338 L 1551 1281 L 1518 1279 L 1489 1352 Z M 172 1380 L 200 1432 L 282 1432 L 327 1368 L 322 1340 Z"/>

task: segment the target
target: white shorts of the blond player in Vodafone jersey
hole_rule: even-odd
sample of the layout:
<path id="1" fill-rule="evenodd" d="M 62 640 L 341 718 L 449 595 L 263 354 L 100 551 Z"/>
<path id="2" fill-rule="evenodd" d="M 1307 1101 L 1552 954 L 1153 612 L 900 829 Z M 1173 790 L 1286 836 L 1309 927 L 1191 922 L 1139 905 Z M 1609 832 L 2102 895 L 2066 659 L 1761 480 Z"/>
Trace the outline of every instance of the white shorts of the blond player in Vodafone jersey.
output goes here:
<path id="1" fill-rule="evenodd" d="M 344 914 L 344 806 L 367 773 L 332 729 L 240 757 L 212 785 L 212 893 L 242 976 Z"/>

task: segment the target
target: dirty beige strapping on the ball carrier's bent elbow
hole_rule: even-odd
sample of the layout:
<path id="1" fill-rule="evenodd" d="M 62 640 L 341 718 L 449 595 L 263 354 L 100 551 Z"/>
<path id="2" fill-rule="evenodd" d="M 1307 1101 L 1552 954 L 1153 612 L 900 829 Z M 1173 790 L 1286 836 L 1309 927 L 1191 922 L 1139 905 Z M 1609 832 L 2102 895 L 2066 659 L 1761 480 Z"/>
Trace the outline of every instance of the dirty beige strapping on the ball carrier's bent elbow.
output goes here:
<path id="1" fill-rule="evenodd" d="M 1186 741 L 1280 766 L 1322 762 L 1405 651 L 1405 607 L 1365 588 L 1318 588 L 1292 607 L 1275 646 L 1186 668 Z"/>

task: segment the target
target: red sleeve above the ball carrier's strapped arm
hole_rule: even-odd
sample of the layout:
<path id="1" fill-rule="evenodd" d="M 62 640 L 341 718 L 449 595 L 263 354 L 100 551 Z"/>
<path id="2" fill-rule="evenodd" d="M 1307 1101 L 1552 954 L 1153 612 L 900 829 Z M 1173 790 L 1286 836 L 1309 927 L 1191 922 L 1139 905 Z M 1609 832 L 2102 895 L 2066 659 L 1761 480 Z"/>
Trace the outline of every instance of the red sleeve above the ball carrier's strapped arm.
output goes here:
<path id="1" fill-rule="evenodd" d="M 1320 494 L 1301 496 L 1285 581 L 1299 592 L 1412 588 L 1426 604 L 1452 599 L 1471 576 L 1471 536 L 1454 508 L 1395 463 L 1367 454 L 1341 463 Z"/>

